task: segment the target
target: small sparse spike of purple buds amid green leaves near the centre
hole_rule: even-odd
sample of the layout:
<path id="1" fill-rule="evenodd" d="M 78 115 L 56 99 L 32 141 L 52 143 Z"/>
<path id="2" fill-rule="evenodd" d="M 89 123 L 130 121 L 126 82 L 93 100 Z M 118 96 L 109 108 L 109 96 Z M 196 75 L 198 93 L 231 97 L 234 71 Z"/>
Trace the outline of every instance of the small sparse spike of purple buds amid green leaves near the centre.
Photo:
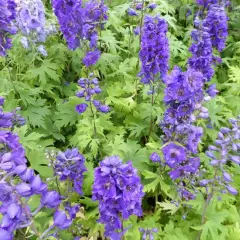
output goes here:
<path id="1" fill-rule="evenodd" d="M 89 102 L 90 105 L 94 105 L 94 107 L 102 113 L 108 113 L 110 108 L 107 105 L 101 104 L 98 100 L 93 100 L 93 96 L 96 94 L 100 94 L 102 92 L 99 87 L 99 81 L 94 77 L 93 73 L 89 75 L 89 78 L 80 78 L 78 81 L 78 85 L 82 88 L 79 92 L 77 92 L 76 96 L 79 98 L 85 98 L 86 102 Z M 86 111 L 88 104 L 81 103 L 76 106 L 76 111 L 78 113 L 83 113 Z"/>

